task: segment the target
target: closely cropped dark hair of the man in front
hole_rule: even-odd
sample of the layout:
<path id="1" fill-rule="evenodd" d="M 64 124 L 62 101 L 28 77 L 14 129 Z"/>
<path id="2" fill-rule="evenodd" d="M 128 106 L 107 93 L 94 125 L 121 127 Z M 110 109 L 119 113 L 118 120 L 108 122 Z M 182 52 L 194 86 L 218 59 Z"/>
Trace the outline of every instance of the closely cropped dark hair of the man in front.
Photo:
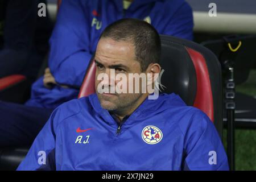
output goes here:
<path id="1" fill-rule="evenodd" d="M 149 23 L 139 19 L 126 18 L 110 24 L 100 38 L 115 41 L 130 41 L 135 47 L 135 59 L 145 71 L 151 63 L 159 63 L 161 42 L 158 32 Z"/>

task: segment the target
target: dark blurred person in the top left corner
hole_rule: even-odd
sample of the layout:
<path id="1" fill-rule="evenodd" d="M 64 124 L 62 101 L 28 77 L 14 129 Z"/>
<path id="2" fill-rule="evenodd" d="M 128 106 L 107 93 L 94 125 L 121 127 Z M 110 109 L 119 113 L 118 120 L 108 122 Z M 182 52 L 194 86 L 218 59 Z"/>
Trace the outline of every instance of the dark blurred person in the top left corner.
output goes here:
<path id="1" fill-rule="evenodd" d="M 1 0 L 0 77 L 22 74 L 32 81 L 49 49 L 52 23 L 38 16 L 38 4 L 45 0 Z"/>

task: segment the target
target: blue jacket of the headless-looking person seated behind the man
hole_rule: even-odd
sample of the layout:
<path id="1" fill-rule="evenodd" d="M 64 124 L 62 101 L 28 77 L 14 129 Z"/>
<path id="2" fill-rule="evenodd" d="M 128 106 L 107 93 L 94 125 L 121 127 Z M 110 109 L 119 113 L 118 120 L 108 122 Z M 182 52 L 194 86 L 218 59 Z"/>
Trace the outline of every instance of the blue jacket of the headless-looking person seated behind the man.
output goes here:
<path id="1" fill-rule="evenodd" d="M 47 89 L 40 78 L 26 105 L 55 108 L 76 98 L 101 32 L 122 18 L 145 19 L 159 34 L 192 39 L 192 10 L 184 0 L 135 0 L 126 11 L 122 0 L 64 0 L 50 39 L 49 68 L 58 84 L 71 88 Z"/>

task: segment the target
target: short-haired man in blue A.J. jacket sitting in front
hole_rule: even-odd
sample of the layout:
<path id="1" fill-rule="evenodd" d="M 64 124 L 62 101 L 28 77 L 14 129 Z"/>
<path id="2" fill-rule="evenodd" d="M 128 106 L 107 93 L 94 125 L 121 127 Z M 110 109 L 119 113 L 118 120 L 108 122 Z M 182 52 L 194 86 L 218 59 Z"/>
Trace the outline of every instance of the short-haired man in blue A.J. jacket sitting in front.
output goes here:
<path id="1" fill-rule="evenodd" d="M 118 91 L 138 86 L 129 74 L 149 75 L 146 85 L 154 85 L 161 69 L 154 27 L 118 20 L 102 32 L 94 60 L 96 94 L 57 107 L 18 170 L 228 169 L 217 131 L 202 111 L 175 94 L 150 100 L 142 80 L 138 93 Z"/>

